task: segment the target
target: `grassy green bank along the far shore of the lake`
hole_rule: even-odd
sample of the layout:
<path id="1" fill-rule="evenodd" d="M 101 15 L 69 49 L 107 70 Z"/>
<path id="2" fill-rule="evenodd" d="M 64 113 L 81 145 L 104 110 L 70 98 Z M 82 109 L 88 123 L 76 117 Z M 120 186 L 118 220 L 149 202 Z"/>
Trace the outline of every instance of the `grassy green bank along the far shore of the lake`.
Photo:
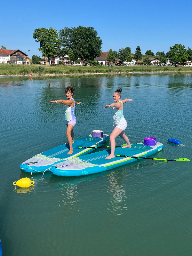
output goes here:
<path id="1" fill-rule="evenodd" d="M 153 66 L 130 66 L 130 67 L 113 67 L 112 73 L 115 73 L 116 68 L 123 73 L 126 72 L 186 72 L 192 71 L 192 67 L 153 67 Z M 0 65 L 0 75 L 15 76 L 15 75 L 62 75 L 62 74 L 86 74 L 86 73 L 110 73 L 110 67 L 95 66 L 44 66 L 44 65 Z"/>

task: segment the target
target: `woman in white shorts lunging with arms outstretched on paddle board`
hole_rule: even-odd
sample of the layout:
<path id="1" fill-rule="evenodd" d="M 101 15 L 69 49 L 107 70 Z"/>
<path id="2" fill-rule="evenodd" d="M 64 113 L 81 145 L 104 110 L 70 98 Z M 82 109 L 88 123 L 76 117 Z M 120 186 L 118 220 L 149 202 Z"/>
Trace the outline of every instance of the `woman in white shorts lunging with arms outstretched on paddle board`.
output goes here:
<path id="1" fill-rule="evenodd" d="M 122 90 L 121 88 L 119 88 L 113 93 L 113 100 L 116 103 L 104 106 L 104 108 L 113 108 L 113 125 L 116 124 L 116 127 L 110 135 L 111 154 L 110 156 L 107 156 L 106 159 L 111 159 L 115 157 L 115 138 L 118 135 L 127 143 L 127 146 L 124 146 L 122 148 L 131 148 L 129 139 L 127 138 L 124 132 L 124 130 L 127 128 L 127 122 L 123 115 L 123 104 L 127 101 L 132 101 L 132 99 L 127 98 L 126 100 L 121 100 L 121 92 Z"/>

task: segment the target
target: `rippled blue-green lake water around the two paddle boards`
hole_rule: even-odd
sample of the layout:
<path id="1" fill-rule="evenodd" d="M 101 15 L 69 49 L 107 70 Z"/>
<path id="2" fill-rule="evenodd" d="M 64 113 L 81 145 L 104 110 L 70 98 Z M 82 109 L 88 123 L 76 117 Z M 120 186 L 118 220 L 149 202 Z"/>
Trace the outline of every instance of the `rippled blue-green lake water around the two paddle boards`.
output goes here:
<path id="1" fill-rule="evenodd" d="M 75 139 L 112 132 L 113 92 L 122 89 L 130 142 L 156 137 L 164 150 L 111 171 L 82 177 L 33 174 L 20 164 L 67 141 L 65 88 L 75 87 Z M 0 78 L 0 238 L 3 256 L 192 255 L 192 75 Z M 184 146 L 169 143 L 180 140 Z M 124 141 L 116 139 L 116 145 Z M 108 142 L 106 145 L 110 145 Z M 98 150 L 98 149 L 97 149 Z"/>

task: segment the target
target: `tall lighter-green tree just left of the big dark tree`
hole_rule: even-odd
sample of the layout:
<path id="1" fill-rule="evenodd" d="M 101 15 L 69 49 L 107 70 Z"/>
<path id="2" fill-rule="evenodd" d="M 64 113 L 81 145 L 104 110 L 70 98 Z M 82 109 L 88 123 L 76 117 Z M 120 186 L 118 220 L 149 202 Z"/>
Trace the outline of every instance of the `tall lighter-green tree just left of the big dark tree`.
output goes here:
<path id="1" fill-rule="evenodd" d="M 48 58 L 57 54 L 59 48 L 59 37 L 56 28 L 36 28 L 33 33 L 35 42 L 40 43 L 38 49 L 44 57 Z"/>

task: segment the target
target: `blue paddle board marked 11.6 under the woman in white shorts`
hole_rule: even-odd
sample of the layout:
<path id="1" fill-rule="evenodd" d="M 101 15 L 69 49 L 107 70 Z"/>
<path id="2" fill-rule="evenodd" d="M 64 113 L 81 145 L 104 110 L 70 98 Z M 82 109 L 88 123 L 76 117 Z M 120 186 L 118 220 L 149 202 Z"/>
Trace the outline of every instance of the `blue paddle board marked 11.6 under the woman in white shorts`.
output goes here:
<path id="1" fill-rule="evenodd" d="M 162 143 L 157 142 L 156 146 L 146 146 L 143 143 L 133 144 L 132 148 L 116 148 L 116 155 L 127 156 L 151 156 L 164 148 Z M 97 172 L 107 171 L 124 164 L 129 164 L 138 159 L 131 157 L 115 157 L 112 159 L 105 159 L 109 156 L 111 150 L 103 150 L 89 154 L 87 156 L 79 156 L 69 159 L 65 162 L 54 164 L 50 171 L 58 176 L 81 176 Z"/>

